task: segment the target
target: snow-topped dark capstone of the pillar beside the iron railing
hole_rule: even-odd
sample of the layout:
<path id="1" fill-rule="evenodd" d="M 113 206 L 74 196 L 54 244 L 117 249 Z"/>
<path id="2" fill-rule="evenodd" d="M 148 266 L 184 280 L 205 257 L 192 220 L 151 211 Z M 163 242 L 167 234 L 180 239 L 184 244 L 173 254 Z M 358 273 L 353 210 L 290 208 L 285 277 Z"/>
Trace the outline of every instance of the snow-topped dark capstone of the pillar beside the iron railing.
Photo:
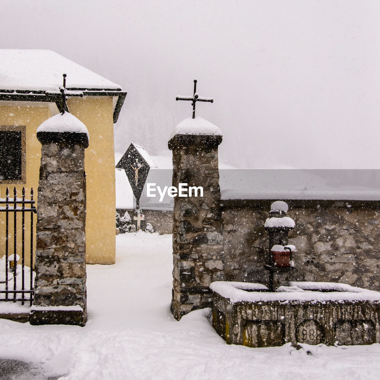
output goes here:
<path id="1" fill-rule="evenodd" d="M 77 117 L 64 112 L 45 120 L 37 128 L 37 139 L 42 142 L 66 141 L 89 146 L 89 131 Z"/>

